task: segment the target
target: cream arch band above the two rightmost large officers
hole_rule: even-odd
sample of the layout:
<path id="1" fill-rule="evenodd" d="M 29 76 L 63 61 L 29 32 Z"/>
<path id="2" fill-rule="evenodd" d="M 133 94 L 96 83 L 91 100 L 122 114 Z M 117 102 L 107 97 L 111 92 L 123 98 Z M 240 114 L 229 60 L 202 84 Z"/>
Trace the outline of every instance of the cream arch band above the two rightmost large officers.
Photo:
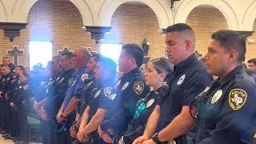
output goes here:
<path id="1" fill-rule="evenodd" d="M 222 12 L 230 30 L 239 30 L 239 22 L 232 7 L 224 0 L 185 0 L 178 6 L 177 13 L 174 16 L 174 23 L 186 22 L 190 12 L 197 6 L 214 6 Z"/>

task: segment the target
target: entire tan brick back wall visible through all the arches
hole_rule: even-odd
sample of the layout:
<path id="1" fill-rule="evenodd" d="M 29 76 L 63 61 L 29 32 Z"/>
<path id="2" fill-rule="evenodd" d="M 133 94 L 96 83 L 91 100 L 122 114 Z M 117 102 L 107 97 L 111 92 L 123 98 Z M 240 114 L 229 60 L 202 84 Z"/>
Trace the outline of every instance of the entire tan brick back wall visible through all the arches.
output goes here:
<path id="1" fill-rule="evenodd" d="M 218 29 L 226 29 L 226 19 L 222 13 L 214 7 L 199 6 L 191 11 L 186 22 L 194 28 L 197 36 L 197 49 L 206 54 L 206 47 L 210 42 L 210 35 Z M 17 45 L 25 50 L 21 56 L 20 64 L 29 65 L 29 42 L 30 40 L 52 40 L 54 43 L 54 55 L 63 46 L 74 50 L 77 46 L 90 46 L 99 51 L 99 45 L 90 39 L 89 34 L 81 27 L 82 17 L 77 8 L 69 1 L 38 1 L 30 10 L 28 16 L 29 25 L 22 30 L 21 36 L 10 42 L 3 36 L 0 30 L 0 58 L 6 56 L 6 50 Z M 110 33 L 105 42 L 135 42 L 142 44 L 144 37 L 150 42 L 149 55 L 152 58 L 163 57 L 164 39 L 158 33 L 158 19 L 150 7 L 142 3 L 125 3 L 119 6 L 111 20 Z M 254 30 L 256 23 L 254 22 Z M 253 37 L 256 40 L 256 34 Z M 256 55 L 254 47 L 256 42 L 248 45 L 246 58 Z"/>

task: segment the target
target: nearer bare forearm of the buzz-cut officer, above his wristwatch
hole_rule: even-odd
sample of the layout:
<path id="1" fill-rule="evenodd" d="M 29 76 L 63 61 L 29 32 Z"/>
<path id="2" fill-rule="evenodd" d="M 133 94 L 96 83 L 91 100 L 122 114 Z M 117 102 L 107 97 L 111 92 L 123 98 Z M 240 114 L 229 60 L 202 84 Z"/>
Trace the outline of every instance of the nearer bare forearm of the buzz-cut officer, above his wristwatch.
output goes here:
<path id="1" fill-rule="evenodd" d="M 196 110 L 194 109 L 192 113 L 195 114 L 195 112 Z M 193 120 L 190 116 L 189 106 L 183 106 L 181 114 L 178 114 L 166 128 L 158 133 L 158 139 L 161 142 L 165 142 L 185 134 L 192 126 Z"/>

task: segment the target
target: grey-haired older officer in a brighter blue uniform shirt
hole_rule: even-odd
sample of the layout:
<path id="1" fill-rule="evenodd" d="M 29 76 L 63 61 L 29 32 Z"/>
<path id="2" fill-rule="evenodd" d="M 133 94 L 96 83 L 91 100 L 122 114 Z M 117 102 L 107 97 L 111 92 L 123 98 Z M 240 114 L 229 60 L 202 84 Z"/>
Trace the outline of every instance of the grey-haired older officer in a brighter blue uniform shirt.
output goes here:
<path id="1" fill-rule="evenodd" d="M 59 124 L 64 122 L 62 128 L 64 131 L 62 135 L 59 135 L 58 140 L 61 143 L 70 143 L 70 127 L 75 119 L 75 109 L 77 107 L 76 95 L 82 94 L 82 88 L 85 86 L 85 80 L 91 78 L 86 70 L 86 64 L 91 57 L 90 50 L 87 48 L 74 50 L 74 56 L 72 58 L 75 68 L 78 70 L 73 80 L 70 82 L 71 86 L 68 88 L 65 94 L 64 101 L 61 108 L 58 110 L 56 119 Z"/>

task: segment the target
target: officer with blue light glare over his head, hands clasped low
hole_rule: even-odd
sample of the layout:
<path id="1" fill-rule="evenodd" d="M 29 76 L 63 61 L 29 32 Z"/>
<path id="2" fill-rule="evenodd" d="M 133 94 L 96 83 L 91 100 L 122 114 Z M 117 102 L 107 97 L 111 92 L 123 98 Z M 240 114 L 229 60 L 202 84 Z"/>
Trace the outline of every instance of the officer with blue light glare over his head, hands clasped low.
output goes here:
<path id="1" fill-rule="evenodd" d="M 90 102 L 82 114 L 82 122 L 77 134 L 80 142 L 88 142 L 91 139 L 94 143 L 101 143 L 97 133 L 98 126 L 104 118 L 114 115 L 118 110 L 114 89 L 116 70 L 117 65 L 112 59 L 103 56 L 99 58 L 94 70 L 98 87 L 93 90 Z"/>

